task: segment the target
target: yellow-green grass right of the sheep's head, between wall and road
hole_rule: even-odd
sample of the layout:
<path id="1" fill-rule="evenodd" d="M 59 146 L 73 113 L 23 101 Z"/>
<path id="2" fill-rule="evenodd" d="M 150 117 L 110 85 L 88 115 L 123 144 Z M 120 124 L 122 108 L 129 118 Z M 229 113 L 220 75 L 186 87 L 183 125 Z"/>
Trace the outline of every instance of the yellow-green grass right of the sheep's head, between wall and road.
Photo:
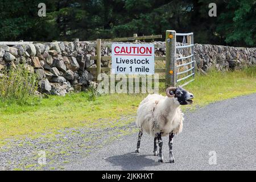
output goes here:
<path id="1" fill-rule="evenodd" d="M 256 67 L 242 71 L 216 72 L 197 75 L 196 80 L 184 86 L 195 96 L 195 103 L 187 107 L 204 106 L 211 102 L 256 93 Z"/>

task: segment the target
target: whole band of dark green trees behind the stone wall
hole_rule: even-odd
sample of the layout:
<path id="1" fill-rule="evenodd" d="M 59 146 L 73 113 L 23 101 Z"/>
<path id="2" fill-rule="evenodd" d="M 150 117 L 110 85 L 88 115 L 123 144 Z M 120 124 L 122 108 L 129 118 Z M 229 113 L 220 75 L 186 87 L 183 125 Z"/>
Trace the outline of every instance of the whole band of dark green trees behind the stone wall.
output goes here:
<path id="1" fill-rule="evenodd" d="M 46 17 L 38 3 L 46 3 Z M 209 17 L 209 3 L 217 17 Z M 255 0 L 28 0 L 0 2 L 2 41 L 96 40 L 194 32 L 196 43 L 255 46 Z"/>

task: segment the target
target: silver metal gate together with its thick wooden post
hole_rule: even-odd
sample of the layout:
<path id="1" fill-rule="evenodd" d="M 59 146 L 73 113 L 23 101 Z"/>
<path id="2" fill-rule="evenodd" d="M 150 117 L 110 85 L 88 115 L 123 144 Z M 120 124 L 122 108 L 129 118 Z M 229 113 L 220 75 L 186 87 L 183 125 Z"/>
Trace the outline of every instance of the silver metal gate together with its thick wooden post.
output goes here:
<path id="1" fill-rule="evenodd" d="M 183 37 L 177 46 L 176 37 Z M 187 38 L 187 39 L 186 39 Z M 178 43 L 179 44 L 179 43 Z M 177 57 L 178 55 L 182 55 Z M 179 62 L 179 63 L 178 63 Z M 191 78 L 190 80 L 187 80 Z M 193 33 L 180 34 L 166 31 L 166 86 L 185 86 L 195 80 L 195 58 Z"/>

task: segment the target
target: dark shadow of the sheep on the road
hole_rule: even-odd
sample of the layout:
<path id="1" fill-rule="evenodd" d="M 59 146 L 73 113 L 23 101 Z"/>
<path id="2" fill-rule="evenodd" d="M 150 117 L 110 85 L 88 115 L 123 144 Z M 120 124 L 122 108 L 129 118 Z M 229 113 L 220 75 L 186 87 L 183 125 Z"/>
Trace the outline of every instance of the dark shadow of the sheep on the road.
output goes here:
<path id="1" fill-rule="evenodd" d="M 114 166 L 121 166 L 122 170 L 142 170 L 144 167 L 154 167 L 158 166 L 159 163 L 156 162 L 156 159 L 149 159 L 148 156 L 152 155 L 139 155 L 135 152 L 130 152 L 123 155 L 115 155 L 109 158 L 106 158 L 106 161 L 112 163 Z"/>

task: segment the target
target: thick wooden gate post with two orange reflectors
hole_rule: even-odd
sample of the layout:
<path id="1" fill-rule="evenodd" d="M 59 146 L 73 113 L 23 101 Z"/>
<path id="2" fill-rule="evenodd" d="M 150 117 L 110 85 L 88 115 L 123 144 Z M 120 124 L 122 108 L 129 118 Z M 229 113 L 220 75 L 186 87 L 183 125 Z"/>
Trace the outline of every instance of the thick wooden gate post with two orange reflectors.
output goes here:
<path id="1" fill-rule="evenodd" d="M 176 31 L 166 31 L 166 88 L 176 86 Z"/>

